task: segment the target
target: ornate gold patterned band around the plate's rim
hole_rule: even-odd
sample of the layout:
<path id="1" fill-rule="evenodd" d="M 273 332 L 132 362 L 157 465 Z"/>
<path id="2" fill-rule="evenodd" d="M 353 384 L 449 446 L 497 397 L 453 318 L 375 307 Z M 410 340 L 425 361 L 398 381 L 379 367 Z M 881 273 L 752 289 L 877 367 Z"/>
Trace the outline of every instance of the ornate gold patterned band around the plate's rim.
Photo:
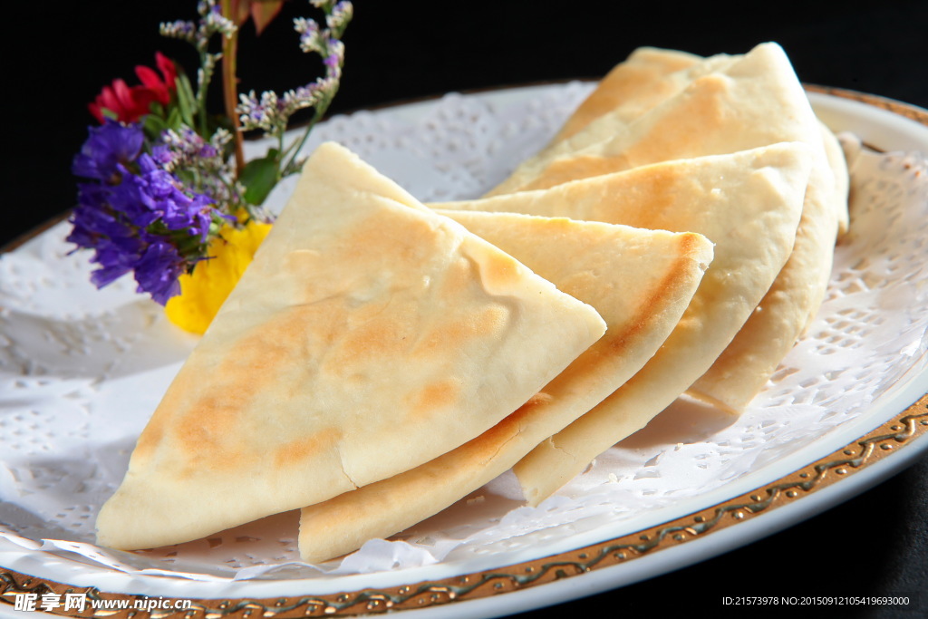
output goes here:
<path id="1" fill-rule="evenodd" d="M 875 108 L 888 110 L 917 123 L 928 126 L 928 110 L 922 110 L 894 99 L 877 97 L 857 91 L 806 84 L 809 92 L 852 99 Z M 60 219 L 55 220 L 60 221 Z M 24 240 L 36 236 L 40 227 L 26 238 L 14 241 L 6 250 L 19 246 Z M 765 484 L 735 496 L 715 506 L 701 509 L 676 520 L 577 548 L 542 559 L 514 563 L 494 570 L 474 572 L 438 580 L 427 580 L 396 587 L 365 588 L 326 595 L 298 595 L 277 598 L 237 598 L 189 600 L 183 610 L 171 610 L 181 598 L 160 597 L 160 608 L 151 611 L 135 608 L 151 596 L 112 593 L 97 587 L 73 587 L 29 574 L 0 569 L 0 604 L 13 606 L 19 594 L 44 594 L 63 597 L 65 594 L 84 594 L 88 600 L 122 600 L 126 608 L 116 610 L 116 603 L 106 604 L 109 609 L 93 609 L 90 604 L 84 611 L 64 611 L 61 606 L 48 613 L 71 617 L 123 617 L 129 619 L 284 619 L 288 617 L 339 617 L 367 613 L 385 613 L 438 606 L 460 600 L 477 600 L 546 585 L 556 580 L 588 574 L 606 567 L 652 555 L 666 548 L 674 548 L 695 539 L 704 538 L 733 524 L 746 522 L 756 516 L 791 505 L 839 480 L 849 478 L 890 454 L 899 452 L 928 434 L 928 393 L 906 410 L 857 440 L 844 445 L 828 456 Z M 928 440 L 928 439 L 924 439 Z M 921 445 L 921 444 L 920 444 Z M 127 601 L 128 603 L 124 603 Z M 141 604 L 144 608 L 144 603 Z"/>

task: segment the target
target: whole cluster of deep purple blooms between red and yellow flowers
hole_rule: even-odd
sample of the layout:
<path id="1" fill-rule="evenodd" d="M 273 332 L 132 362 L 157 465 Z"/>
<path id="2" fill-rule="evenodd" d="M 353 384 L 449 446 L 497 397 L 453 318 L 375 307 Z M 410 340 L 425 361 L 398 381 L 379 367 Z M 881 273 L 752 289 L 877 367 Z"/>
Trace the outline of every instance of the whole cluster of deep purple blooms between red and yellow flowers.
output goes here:
<path id="1" fill-rule="evenodd" d="M 203 258 L 213 221 L 234 218 L 168 170 L 175 153 L 143 147 L 137 125 L 90 129 L 74 161 L 74 173 L 88 181 L 78 185 L 68 240 L 94 250 L 97 288 L 135 272 L 138 291 L 166 303 L 180 292 L 177 278 Z"/>

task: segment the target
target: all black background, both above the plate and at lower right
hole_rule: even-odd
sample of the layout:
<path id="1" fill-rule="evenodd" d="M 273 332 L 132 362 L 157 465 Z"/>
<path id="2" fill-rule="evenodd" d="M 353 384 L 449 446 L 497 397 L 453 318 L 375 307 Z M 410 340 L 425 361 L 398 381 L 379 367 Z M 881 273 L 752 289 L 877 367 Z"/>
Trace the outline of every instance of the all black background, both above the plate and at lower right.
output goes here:
<path id="1" fill-rule="evenodd" d="M 192 69 L 158 23 L 193 19 L 191 0 L 5 6 L 3 170 L 6 243 L 71 206 L 71 158 L 93 119 L 86 103 L 116 77 L 135 83 L 156 49 Z M 315 77 L 296 51 L 289 2 L 260 38 L 242 33 L 242 85 L 281 90 Z M 710 55 L 763 41 L 786 49 L 806 83 L 928 107 L 926 2 L 386 2 L 356 0 L 345 36 L 341 113 L 448 91 L 601 76 L 639 45 Z M 898 609 L 818 609 L 822 616 L 928 613 L 928 461 L 844 505 L 746 548 L 531 616 L 744 613 L 723 596 L 909 595 Z M 784 609 L 780 609 L 780 613 Z M 748 613 L 756 613 L 751 609 Z"/>

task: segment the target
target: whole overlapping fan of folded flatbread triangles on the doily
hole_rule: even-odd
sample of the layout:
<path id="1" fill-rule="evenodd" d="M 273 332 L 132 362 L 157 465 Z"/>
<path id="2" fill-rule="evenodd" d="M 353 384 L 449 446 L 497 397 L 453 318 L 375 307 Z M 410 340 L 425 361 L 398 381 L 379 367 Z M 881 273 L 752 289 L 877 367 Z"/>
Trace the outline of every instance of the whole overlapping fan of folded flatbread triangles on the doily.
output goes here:
<path id="1" fill-rule="evenodd" d="M 779 46 L 643 48 L 480 200 L 316 149 L 142 433 L 98 541 L 302 509 L 305 561 L 514 469 L 537 503 L 682 393 L 737 411 L 820 303 L 841 150 Z"/>

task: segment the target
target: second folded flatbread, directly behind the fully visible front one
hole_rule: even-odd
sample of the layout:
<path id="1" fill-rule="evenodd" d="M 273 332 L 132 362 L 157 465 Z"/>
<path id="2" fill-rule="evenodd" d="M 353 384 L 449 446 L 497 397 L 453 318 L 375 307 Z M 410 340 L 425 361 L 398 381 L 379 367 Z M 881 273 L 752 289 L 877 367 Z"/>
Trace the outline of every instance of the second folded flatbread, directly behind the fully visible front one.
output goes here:
<path id="1" fill-rule="evenodd" d="M 658 350 L 712 260 L 698 234 L 514 213 L 440 212 L 595 307 L 606 334 L 527 404 L 466 445 L 303 509 L 300 552 L 325 561 L 425 520 L 509 470 Z"/>

